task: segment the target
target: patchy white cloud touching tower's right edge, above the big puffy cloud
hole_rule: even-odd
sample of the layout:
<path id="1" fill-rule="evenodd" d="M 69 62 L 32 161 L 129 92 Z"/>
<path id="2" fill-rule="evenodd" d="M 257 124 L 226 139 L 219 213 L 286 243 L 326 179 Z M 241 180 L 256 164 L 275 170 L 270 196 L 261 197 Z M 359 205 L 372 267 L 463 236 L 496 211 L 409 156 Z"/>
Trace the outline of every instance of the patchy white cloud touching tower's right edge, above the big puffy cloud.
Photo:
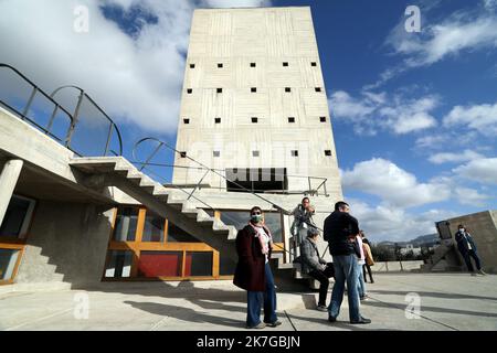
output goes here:
<path id="1" fill-rule="evenodd" d="M 403 95 L 362 92 L 362 97 L 351 97 L 347 92 L 331 94 L 329 106 L 332 115 L 353 125 L 359 135 L 374 135 L 387 129 L 396 135 L 432 128 L 437 125 L 431 111 L 438 105 L 438 97 L 427 95 L 417 99 Z"/>

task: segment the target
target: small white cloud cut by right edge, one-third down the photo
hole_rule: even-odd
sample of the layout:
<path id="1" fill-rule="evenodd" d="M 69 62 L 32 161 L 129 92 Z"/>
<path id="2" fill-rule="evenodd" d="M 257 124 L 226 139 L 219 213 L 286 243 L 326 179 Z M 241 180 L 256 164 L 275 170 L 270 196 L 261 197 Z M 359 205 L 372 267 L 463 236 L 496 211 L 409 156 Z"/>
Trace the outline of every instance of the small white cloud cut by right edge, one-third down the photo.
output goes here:
<path id="1" fill-rule="evenodd" d="M 467 126 L 485 136 L 497 136 L 497 103 L 455 106 L 443 119 L 444 126 Z"/>

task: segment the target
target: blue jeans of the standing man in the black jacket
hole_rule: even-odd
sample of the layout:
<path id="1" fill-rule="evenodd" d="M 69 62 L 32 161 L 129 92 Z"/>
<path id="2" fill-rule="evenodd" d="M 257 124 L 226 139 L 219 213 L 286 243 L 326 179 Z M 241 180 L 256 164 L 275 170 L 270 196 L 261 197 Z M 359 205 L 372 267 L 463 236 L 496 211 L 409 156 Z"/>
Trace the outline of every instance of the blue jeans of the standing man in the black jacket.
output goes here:
<path id="1" fill-rule="evenodd" d="M 347 297 L 349 300 L 349 319 L 350 321 L 359 321 L 359 291 L 358 291 L 358 265 L 357 256 L 335 255 L 335 286 L 331 292 L 331 302 L 328 307 L 328 314 L 337 318 L 340 313 L 341 301 L 343 300 L 345 282 L 347 281 Z"/>

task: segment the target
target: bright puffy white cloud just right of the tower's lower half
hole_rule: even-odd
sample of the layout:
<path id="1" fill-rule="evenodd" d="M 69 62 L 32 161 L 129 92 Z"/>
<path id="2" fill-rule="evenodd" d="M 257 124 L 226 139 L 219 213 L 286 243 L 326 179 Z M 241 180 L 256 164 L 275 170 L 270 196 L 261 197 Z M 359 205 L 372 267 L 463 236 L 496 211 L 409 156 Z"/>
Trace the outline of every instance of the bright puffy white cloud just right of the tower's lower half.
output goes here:
<path id="1" fill-rule="evenodd" d="M 411 207 L 448 200 L 451 190 L 438 182 L 419 183 L 415 175 L 391 161 L 373 158 L 342 171 L 346 191 L 355 190 L 380 196 L 388 204 Z"/>

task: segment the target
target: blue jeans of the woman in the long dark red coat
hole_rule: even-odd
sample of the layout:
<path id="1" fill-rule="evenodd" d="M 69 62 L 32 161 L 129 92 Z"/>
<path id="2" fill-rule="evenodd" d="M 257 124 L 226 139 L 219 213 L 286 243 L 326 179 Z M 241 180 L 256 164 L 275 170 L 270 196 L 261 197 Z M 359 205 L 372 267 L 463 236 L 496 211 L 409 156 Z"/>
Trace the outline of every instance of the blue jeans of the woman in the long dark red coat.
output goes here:
<path id="1" fill-rule="evenodd" d="M 252 328 L 261 323 L 261 308 L 264 304 L 264 322 L 271 323 L 276 317 L 276 291 L 269 263 L 265 265 L 266 290 L 246 292 L 246 325 Z"/>

